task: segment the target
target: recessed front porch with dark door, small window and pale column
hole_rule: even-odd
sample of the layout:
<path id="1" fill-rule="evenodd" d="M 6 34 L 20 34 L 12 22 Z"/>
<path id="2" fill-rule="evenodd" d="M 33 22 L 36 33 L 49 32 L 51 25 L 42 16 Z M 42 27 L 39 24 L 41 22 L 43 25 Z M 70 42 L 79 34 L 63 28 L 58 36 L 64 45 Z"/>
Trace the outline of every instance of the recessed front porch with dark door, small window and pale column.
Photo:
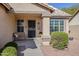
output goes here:
<path id="1" fill-rule="evenodd" d="M 41 38 L 50 40 L 50 17 L 41 14 L 15 13 L 16 34 L 22 39 Z M 24 37 L 24 38 L 23 38 Z M 19 39 L 18 39 L 19 40 Z"/>

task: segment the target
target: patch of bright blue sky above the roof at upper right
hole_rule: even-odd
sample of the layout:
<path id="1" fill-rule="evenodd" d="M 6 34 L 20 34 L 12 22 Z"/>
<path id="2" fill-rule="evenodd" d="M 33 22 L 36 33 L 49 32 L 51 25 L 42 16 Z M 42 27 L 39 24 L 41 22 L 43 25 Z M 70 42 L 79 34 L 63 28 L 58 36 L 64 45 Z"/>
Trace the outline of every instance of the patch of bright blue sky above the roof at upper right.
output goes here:
<path id="1" fill-rule="evenodd" d="M 49 3 L 49 5 L 52 5 L 56 8 L 68 8 L 75 5 L 75 3 Z"/>

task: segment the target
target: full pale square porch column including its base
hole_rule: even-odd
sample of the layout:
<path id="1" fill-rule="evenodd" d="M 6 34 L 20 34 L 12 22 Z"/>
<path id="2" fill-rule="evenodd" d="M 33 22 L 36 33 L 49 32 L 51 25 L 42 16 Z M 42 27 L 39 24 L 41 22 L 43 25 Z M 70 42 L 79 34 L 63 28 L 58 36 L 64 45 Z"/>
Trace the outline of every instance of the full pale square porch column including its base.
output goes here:
<path id="1" fill-rule="evenodd" d="M 48 45 L 50 42 L 50 17 L 43 17 L 42 19 L 42 40 L 43 44 Z"/>

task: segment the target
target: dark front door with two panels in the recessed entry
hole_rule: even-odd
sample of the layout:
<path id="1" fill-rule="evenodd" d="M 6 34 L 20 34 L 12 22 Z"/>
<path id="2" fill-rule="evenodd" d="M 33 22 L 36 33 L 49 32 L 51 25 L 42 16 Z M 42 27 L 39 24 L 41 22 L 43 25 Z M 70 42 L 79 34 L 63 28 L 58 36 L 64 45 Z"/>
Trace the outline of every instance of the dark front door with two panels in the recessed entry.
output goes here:
<path id="1" fill-rule="evenodd" d="M 28 20 L 28 37 L 33 38 L 36 36 L 35 34 L 36 22 L 35 20 Z"/>

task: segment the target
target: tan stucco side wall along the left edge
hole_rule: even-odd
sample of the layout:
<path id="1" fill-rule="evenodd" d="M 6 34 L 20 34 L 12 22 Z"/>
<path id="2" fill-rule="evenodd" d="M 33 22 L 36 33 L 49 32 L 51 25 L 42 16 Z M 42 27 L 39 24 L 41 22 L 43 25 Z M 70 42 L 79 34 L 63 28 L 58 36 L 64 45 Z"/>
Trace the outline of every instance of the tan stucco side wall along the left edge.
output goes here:
<path id="1" fill-rule="evenodd" d="M 13 32 L 15 32 L 15 18 L 0 4 L 0 48 L 12 41 Z"/>

